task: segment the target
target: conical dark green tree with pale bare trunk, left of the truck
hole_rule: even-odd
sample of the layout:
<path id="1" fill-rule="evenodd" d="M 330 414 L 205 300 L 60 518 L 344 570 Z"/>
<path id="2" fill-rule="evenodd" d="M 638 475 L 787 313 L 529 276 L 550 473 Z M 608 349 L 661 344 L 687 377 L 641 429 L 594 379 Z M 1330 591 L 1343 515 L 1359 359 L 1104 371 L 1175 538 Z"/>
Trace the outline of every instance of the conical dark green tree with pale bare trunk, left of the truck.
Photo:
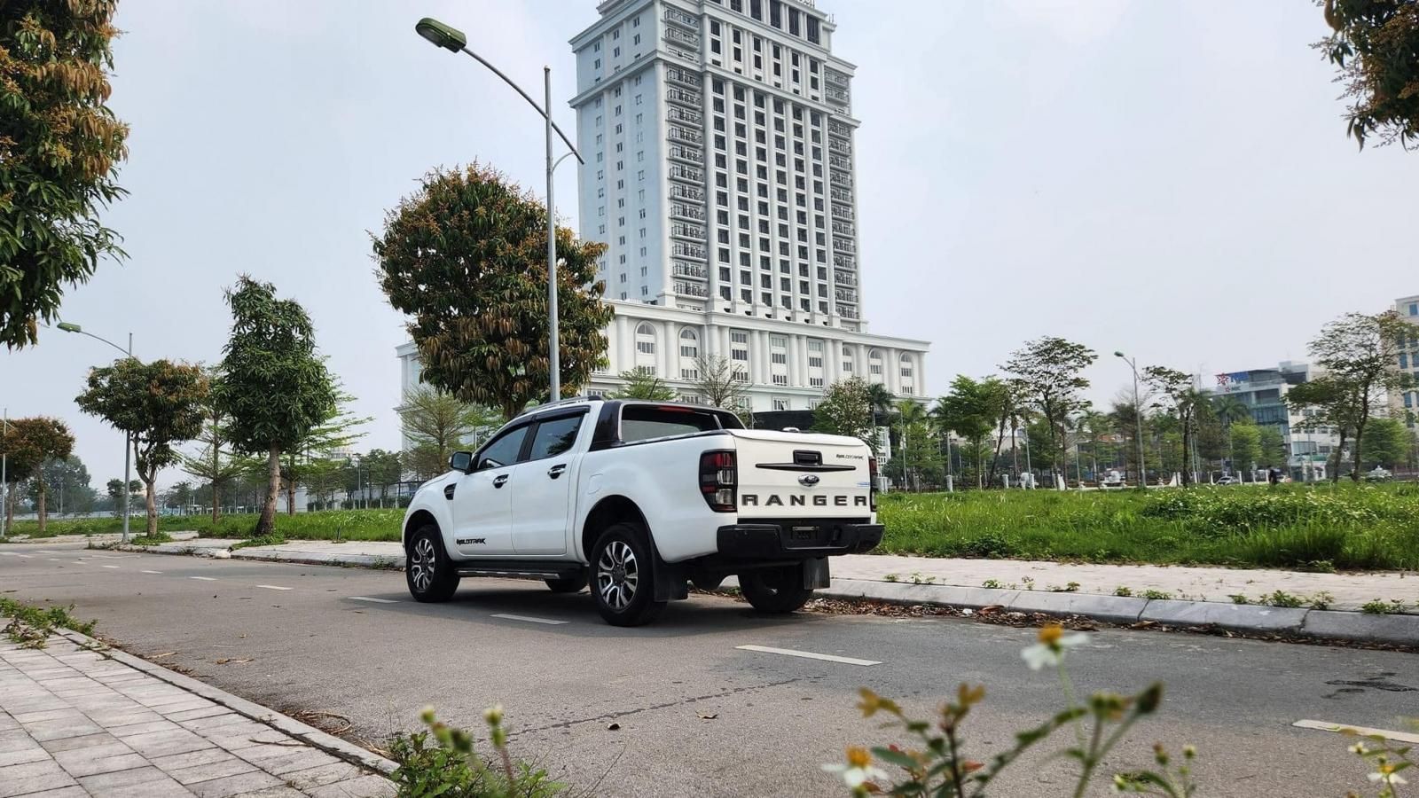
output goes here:
<path id="1" fill-rule="evenodd" d="M 267 535 L 275 528 L 281 454 L 297 450 L 338 413 L 338 395 L 315 351 L 305 308 L 245 275 L 226 298 L 231 307 L 231 338 L 221 361 L 227 436 L 237 450 L 267 457 L 268 490 L 253 532 Z"/>

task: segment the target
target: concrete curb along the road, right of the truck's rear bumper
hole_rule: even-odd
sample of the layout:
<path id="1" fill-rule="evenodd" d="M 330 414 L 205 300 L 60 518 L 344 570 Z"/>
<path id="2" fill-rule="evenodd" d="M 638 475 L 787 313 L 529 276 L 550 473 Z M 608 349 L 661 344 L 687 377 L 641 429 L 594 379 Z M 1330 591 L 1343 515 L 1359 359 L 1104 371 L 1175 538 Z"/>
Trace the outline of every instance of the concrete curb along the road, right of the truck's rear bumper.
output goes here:
<path id="1" fill-rule="evenodd" d="M 932 603 L 968 609 L 1078 615 L 1110 623 L 1151 621 L 1162 626 L 1218 626 L 1237 632 L 1293 635 L 1318 640 L 1351 640 L 1419 646 L 1419 615 L 1368 615 L 1323 609 L 1147 599 L 1093 594 L 911 585 L 873 579 L 833 579 L 823 598 L 877 599 L 890 603 Z"/>

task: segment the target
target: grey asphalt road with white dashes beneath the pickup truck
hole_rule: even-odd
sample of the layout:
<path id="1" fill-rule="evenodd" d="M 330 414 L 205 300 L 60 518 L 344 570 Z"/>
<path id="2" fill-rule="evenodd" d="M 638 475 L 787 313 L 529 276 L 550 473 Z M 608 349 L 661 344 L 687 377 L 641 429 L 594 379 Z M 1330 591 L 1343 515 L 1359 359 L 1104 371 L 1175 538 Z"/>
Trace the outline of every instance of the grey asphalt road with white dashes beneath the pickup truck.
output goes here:
<path id="1" fill-rule="evenodd" d="M 616 629 L 586 594 L 532 582 L 468 579 L 455 601 L 420 605 L 397 572 L 75 544 L 0 547 L 0 591 L 74 602 L 136 653 L 172 652 L 163 662 L 268 706 L 349 716 L 365 740 L 417 726 L 426 704 L 478 726 L 501 701 L 518 755 L 580 787 L 606 774 L 597 795 L 839 795 L 819 764 L 849 743 L 891 740 L 854 710 L 864 684 L 925 714 L 959 682 L 985 683 L 969 726 L 981 758 L 1060 700 L 1053 679 L 1020 660 L 1033 630 L 949 618 L 765 619 L 697 596 L 654 626 Z M 1164 680 L 1162 713 L 1108 765 L 1148 764 L 1155 740 L 1191 741 L 1205 795 L 1342 795 L 1364 782 L 1364 765 L 1341 737 L 1291 723 L 1399 728 L 1396 716 L 1419 714 L 1419 657 L 1406 653 L 1104 630 L 1073 674 L 1084 690 Z M 1067 772 L 1036 758 L 996 795 L 1060 794 Z"/>

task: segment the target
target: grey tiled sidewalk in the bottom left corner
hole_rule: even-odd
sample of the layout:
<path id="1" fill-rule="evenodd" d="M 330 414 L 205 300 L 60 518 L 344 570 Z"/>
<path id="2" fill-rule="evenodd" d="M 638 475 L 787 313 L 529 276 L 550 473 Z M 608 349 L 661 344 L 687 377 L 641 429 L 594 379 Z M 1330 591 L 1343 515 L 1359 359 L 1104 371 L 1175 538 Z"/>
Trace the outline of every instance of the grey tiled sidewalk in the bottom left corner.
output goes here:
<path id="1" fill-rule="evenodd" d="M 44 649 L 0 640 L 0 798 L 373 798 L 394 794 L 389 770 L 82 635 L 53 635 Z"/>

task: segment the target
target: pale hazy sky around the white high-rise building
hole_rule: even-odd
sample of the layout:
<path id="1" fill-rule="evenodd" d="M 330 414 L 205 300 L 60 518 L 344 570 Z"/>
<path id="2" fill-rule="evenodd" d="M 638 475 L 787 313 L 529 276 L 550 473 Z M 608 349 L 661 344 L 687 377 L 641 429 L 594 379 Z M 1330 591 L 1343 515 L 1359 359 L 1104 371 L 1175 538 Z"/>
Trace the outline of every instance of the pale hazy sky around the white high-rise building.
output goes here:
<path id="1" fill-rule="evenodd" d="M 372 275 L 368 230 L 438 165 L 491 162 L 542 193 L 539 118 L 467 57 L 413 31 L 436 16 L 539 94 L 595 0 L 122 0 L 112 106 L 132 125 L 106 222 L 129 260 L 68 294 L 64 317 L 142 358 L 217 361 L 238 273 L 315 319 L 331 368 L 399 444 L 402 318 Z M 1419 153 L 1358 153 L 1296 0 L 819 0 L 858 65 L 864 317 L 932 341 L 928 392 L 1061 335 L 1182 371 L 1300 359 L 1335 315 L 1419 293 Z M 561 170 L 558 195 L 575 197 Z M 558 209 L 570 222 L 576 209 Z M 64 417 L 94 486 L 122 436 L 81 415 L 115 352 L 41 331 L 0 351 L 10 417 Z M 179 471 L 162 481 L 179 480 Z"/>

